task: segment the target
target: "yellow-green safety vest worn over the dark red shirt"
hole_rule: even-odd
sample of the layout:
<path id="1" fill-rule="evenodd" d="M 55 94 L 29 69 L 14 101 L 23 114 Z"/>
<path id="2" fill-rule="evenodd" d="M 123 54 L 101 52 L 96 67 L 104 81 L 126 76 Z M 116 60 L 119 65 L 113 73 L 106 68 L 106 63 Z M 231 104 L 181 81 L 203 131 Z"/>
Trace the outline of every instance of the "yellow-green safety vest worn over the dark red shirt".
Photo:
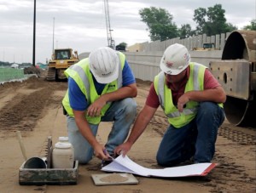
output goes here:
<path id="1" fill-rule="evenodd" d="M 189 80 L 184 93 L 192 90 L 204 90 L 204 74 L 207 67 L 196 63 L 189 63 L 189 67 Z M 181 128 L 195 118 L 199 103 L 190 100 L 183 112 L 179 112 L 173 105 L 172 90 L 166 86 L 166 76 L 163 71 L 154 77 L 154 89 L 159 97 L 160 106 L 168 117 L 168 122 L 175 128 Z M 218 105 L 223 107 L 223 104 Z"/>

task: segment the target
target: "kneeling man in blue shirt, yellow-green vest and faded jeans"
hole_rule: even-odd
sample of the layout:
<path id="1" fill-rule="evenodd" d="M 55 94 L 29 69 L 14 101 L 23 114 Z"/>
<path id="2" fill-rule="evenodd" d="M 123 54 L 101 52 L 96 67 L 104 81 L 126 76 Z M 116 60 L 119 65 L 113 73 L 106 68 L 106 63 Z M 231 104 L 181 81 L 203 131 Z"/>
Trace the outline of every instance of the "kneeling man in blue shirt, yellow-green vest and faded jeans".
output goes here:
<path id="1" fill-rule="evenodd" d="M 114 148 L 125 141 L 137 113 L 132 99 L 137 96 L 137 85 L 125 54 L 98 48 L 65 74 L 68 88 L 62 105 L 74 159 L 87 163 L 95 155 L 108 161 Z M 100 122 L 113 122 L 106 145 L 96 140 Z"/>

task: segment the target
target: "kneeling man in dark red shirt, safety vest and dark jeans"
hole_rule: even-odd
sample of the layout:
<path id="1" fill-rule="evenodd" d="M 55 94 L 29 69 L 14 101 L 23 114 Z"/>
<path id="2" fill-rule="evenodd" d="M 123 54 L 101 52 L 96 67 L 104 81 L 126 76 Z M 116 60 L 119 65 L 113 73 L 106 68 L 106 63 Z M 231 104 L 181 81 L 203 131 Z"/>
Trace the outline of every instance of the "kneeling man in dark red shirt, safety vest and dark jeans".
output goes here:
<path id="1" fill-rule="evenodd" d="M 181 44 L 166 48 L 160 69 L 129 138 L 115 154 L 131 150 L 160 105 L 169 126 L 156 154 L 158 164 L 211 162 L 218 128 L 224 122 L 224 89 L 206 66 L 190 62 L 188 49 Z"/>

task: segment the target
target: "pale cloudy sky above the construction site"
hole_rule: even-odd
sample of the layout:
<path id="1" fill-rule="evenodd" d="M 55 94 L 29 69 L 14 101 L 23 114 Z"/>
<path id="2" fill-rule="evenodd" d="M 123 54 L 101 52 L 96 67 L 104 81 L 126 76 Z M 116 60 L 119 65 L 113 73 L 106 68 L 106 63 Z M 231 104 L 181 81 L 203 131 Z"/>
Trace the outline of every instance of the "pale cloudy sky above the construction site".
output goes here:
<path id="1" fill-rule="evenodd" d="M 178 28 L 195 29 L 195 9 L 221 4 L 227 22 L 238 29 L 256 18 L 256 0 L 108 0 L 112 38 L 116 45 L 150 42 L 140 9 L 166 9 Z M 0 0 L 0 61 L 32 63 L 34 0 Z M 103 0 L 36 0 L 36 63 L 50 59 L 53 48 L 79 54 L 108 46 Z"/>

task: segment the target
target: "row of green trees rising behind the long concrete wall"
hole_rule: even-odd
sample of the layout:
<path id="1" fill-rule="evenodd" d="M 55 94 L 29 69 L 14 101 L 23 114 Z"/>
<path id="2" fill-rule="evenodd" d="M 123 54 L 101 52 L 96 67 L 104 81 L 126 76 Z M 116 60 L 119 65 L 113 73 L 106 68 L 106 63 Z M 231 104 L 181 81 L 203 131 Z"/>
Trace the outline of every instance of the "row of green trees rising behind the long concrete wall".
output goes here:
<path id="1" fill-rule="evenodd" d="M 189 24 L 183 24 L 178 28 L 173 21 L 173 16 L 166 9 L 144 8 L 139 10 L 141 19 L 148 26 L 147 31 L 151 41 L 165 41 L 175 37 L 187 38 L 194 35 L 207 34 L 212 36 L 237 30 L 236 26 L 227 22 L 225 10 L 221 4 L 213 7 L 198 8 L 194 11 L 193 20 L 197 24 L 193 30 Z M 251 25 L 244 26 L 243 30 L 256 30 L 256 20 L 251 21 Z"/>

